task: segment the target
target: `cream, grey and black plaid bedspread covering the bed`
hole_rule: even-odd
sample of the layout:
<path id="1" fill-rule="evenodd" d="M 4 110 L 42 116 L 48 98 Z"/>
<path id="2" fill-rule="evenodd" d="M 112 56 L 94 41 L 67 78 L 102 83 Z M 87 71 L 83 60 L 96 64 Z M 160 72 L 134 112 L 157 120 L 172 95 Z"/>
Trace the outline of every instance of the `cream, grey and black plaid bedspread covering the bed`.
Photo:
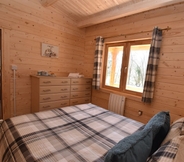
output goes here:
<path id="1" fill-rule="evenodd" d="M 102 162 L 142 123 L 93 104 L 13 117 L 0 127 L 2 162 Z"/>

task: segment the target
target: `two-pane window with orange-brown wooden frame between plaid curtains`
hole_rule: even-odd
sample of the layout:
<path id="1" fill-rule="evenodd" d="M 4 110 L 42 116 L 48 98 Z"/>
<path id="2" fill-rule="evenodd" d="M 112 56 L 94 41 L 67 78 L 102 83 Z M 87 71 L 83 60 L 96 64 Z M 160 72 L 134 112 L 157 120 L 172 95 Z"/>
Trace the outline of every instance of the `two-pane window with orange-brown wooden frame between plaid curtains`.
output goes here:
<path id="1" fill-rule="evenodd" d="M 150 40 L 105 45 L 102 87 L 140 95 L 150 50 Z"/>

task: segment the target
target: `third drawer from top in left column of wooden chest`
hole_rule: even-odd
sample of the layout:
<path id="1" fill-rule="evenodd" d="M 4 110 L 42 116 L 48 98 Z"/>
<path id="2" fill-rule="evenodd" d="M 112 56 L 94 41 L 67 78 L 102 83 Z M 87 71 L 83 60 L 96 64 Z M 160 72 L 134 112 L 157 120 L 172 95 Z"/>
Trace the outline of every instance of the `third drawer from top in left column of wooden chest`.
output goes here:
<path id="1" fill-rule="evenodd" d="M 44 94 L 40 95 L 40 102 L 57 101 L 63 99 L 69 99 L 70 93 L 57 93 L 57 94 Z"/>

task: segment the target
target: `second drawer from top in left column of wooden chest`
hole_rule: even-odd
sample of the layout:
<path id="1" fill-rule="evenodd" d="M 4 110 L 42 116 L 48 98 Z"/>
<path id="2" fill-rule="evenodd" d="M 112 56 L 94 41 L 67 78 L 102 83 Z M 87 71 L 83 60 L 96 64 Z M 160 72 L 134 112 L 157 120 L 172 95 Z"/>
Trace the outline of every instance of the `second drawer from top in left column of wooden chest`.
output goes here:
<path id="1" fill-rule="evenodd" d="M 69 92 L 70 86 L 40 86 L 40 94 Z"/>

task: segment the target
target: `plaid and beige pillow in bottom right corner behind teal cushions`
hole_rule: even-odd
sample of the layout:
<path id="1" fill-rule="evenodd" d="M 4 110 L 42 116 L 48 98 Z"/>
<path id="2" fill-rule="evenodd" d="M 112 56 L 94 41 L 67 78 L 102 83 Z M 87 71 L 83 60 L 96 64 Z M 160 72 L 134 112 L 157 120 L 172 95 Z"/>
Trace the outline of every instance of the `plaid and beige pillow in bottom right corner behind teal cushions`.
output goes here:
<path id="1" fill-rule="evenodd" d="M 176 120 L 161 147 L 152 154 L 148 162 L 181 162 L 184 150 L 184 118 Z"/>

